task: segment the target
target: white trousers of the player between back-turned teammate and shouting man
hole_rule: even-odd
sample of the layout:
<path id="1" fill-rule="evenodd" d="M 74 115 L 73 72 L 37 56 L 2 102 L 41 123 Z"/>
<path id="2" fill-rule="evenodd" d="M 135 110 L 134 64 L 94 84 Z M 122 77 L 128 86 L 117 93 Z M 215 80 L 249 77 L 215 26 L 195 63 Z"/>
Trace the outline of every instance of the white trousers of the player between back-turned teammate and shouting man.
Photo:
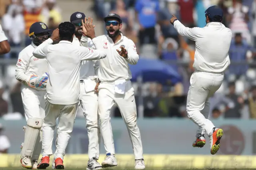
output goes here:
<path id="1" fill-rule="evenodd" d="M 96 84 L 96 80 L 80 80 L 80 106 L 82 107 L 88 130 L 89 159 L 98 158 L 100 154 L 98 94 L 94 92 Z"/>

